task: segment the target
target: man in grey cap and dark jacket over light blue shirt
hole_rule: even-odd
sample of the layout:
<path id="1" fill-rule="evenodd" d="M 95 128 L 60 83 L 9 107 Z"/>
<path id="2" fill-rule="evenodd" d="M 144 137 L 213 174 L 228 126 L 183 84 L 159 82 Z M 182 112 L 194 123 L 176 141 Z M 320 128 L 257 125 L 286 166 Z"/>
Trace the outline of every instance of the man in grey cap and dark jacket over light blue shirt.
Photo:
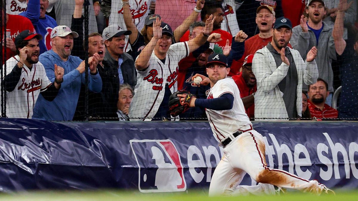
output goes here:
<path id="1" fill-rule="evenodd" d="M 131 55 L 124 52 L 125 35 L 131 31 L 123 30 L 118 25 L 110 25 L 103 30 L 102 38 L 105 41 L 105 61 L 118 69 L 119 84 L 127 83 L 131 87 L 137 84 L 137 75 L 134 60 Z"/>

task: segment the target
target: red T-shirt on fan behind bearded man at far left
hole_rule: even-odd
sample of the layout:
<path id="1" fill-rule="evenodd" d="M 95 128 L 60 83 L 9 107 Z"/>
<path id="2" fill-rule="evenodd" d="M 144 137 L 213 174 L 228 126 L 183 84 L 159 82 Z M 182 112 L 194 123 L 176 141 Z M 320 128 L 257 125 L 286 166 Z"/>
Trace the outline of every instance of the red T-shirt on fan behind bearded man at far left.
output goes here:
<path id="1" fill-rule="evenodd" d="M 6 14 L 8 15 L 8 14 Z M 31 21 L 20 15 L 8 15 L 9 20 L 6 23 L 6 29 L 10 29 L 10 38 L 15 42 L 15 37 L 20 34 L 23 30 L 30 30 L 36 33 L 34 26 L 32 25 Z M 4 32 L 4 27 L 2 30 Z M 4 47 L 3 47 L 3 55 L 4 55 Z M 9 48 L 6 49 L 6 58 L 3 57 L 3 64 L 6 60 L 10 59 L 11 57 L 15 56 L 16 53 L 12 52 Z"/>

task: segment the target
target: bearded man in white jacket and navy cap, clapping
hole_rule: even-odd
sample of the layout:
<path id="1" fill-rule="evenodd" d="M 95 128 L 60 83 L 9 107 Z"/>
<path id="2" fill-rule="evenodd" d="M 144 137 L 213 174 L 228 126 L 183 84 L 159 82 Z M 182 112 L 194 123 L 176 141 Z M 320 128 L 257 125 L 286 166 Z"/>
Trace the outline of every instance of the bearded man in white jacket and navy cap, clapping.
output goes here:
<path id="1" fill-rule="evenodd" d="M 257 80 L 255 120 L 294 120 L 302 113 L 302 84 L 318 78 L 315 62 L 317 49 L 312 47 L 304 61 L 297 50 L 287 47 L 292 35 L 287 18 L 277 18 L 272 42 L 257 50 L 252 72 Z"/>

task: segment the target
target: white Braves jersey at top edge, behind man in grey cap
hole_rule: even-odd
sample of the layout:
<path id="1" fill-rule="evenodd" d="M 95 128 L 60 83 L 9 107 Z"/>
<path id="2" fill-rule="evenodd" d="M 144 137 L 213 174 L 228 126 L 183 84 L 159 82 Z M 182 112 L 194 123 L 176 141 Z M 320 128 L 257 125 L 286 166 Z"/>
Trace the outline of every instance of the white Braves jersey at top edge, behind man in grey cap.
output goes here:
<path id="1" fill-rule="evenodd" d="M 135 26 L 140 32 L 144 27 L 144 20 L 148 15 L 148 9 L 150 0 L 129 0 L 129 8 L 132 13 L 132 18 Z M 126 24 L 123 19 L 123 4 L 122 0 L 112 0 L 111 15 L 108 20 L 108 26 L 112 24 L 118 24 L 123 30 L 126 30 Z M 131 45 L 128 42 L 128 36 L 126 36 L 125 52 L 131 50 Z"/>

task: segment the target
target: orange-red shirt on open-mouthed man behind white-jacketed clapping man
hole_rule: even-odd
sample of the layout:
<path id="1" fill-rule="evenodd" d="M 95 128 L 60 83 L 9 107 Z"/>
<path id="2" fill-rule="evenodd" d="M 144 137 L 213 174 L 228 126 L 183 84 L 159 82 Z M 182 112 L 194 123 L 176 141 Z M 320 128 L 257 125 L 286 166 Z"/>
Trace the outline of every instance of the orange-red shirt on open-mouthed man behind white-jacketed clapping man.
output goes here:
<path id="1" fill-rule="evenodd" d="M 233 63 L 231 65 L 229 76 L 236 75 L 237 73 L 240 72 L 242 64 L 244 63 L 244 60 L 247 57 L 247 55 L 255 54 L 257 50 L 262 49 L 271 41 L 272 41 L 272 36 L 270 38 L 261 38 L 260 36 L 258 36 L 258 34 L 245 40 L 245 52 L 242 55 L 241 59 L 239 59 L 236 63 Z M 287 46 L 292 48 L 290 43 L 287 44 Z"/>

